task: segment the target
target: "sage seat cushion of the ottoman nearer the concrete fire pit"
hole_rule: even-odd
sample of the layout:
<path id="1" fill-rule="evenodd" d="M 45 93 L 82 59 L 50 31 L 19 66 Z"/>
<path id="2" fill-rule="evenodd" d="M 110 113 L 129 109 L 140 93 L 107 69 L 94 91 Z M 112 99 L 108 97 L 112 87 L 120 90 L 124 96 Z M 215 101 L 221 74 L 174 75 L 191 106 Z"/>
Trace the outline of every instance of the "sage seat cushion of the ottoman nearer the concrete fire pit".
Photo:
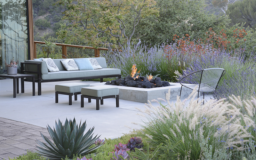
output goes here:
<path id="1" fill-rule="evenodd" d="M 81 89 L 81 94 L 92 97 L 104 97 L 118 95 L 119 89 L 112 86 L 92 86 Z"/>

